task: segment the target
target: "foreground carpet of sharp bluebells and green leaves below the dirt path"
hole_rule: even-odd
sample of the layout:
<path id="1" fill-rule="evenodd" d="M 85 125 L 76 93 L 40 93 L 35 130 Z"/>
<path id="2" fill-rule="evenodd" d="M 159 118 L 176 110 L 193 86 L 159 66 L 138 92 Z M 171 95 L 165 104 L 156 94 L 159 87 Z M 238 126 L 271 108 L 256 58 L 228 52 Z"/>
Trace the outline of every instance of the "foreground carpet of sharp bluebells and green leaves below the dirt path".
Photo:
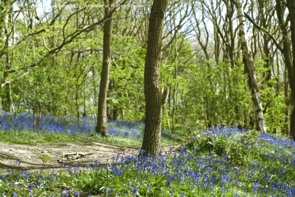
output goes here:
<path id="1" fill-rule="evenodd" d="M 116 124 L 115 131 L 117 126 L 134 131 L 125 137 L 140 135 L 132 129 L 137 123 Z M 119 153 L 106 164 L 63 164 L 50 174 L 24 171 L 16 161 L 15 169 L 0 178 L 0 197 L 295 196 L 295 141 L 290 138 L 217 126 L 156 158 L 141 153 Z"/>

